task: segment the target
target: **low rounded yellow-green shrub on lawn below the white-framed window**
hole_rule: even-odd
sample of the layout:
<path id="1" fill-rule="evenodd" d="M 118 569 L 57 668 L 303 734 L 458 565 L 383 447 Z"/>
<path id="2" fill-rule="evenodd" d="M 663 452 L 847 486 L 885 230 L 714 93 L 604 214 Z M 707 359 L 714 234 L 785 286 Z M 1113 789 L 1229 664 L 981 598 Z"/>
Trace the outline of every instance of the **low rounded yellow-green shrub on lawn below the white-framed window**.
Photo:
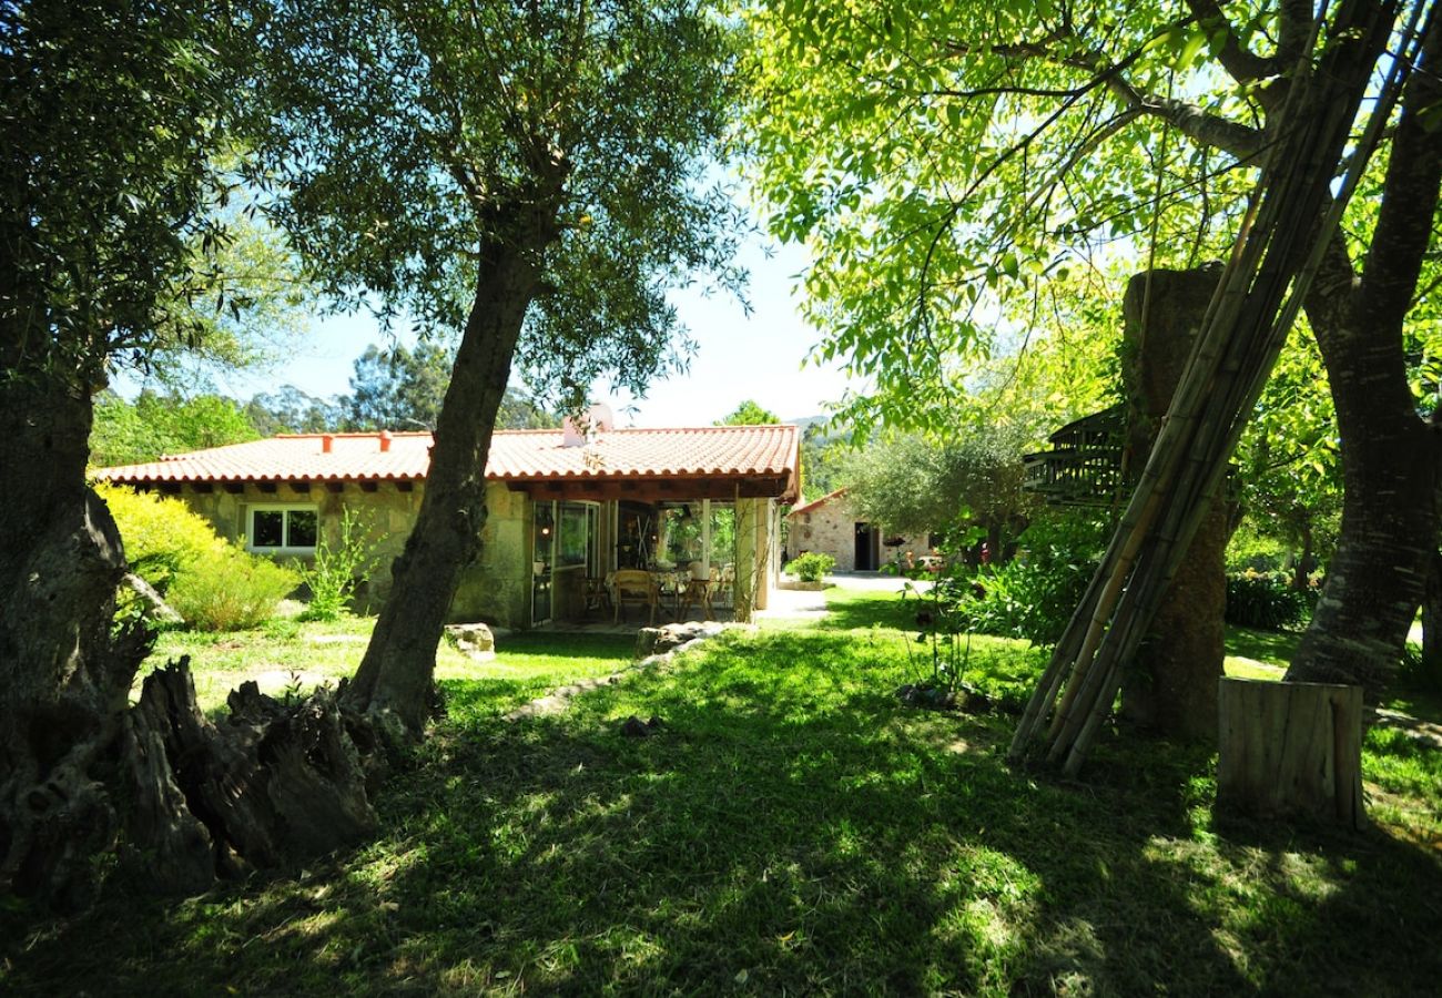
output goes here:
<path id="1" fill-rule="evenodd" d="M 186 564 L 166 599 L 193 627 L 241 630 L 268 620 L 297 583 L 290 568 L 222 544 Z"/>

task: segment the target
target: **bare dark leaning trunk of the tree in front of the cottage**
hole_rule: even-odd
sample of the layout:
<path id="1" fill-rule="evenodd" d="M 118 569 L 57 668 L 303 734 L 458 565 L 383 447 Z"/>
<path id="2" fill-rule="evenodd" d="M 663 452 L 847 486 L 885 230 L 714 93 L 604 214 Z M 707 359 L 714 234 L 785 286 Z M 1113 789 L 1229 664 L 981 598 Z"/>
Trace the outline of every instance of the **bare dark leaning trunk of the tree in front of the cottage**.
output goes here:
<path id="1" fill-rule="evenodd" d="M 495 235 L 482 245 L 476 300 L 435 427 L 425 498 L 346 694 L 392 738 L 420 737 L 434 711 L 435 648 L 460 571 L 480 547 L 490 434 L 526 309 L 539 290 L 542 254 L 557 234 L 544 206 L 525 213 L 518 219 L 526 224 L 521 238 Z"/>

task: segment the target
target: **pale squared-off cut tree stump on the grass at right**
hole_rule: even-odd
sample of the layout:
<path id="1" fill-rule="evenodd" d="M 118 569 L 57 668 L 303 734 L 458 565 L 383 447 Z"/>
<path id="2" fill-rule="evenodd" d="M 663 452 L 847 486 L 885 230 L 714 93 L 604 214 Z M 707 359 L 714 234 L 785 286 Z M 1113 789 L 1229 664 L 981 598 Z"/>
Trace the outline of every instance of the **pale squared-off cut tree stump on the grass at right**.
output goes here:
<path id="1" fill-rule="evenodd" d="M 1363 828 L 1361 686 L 1223 678 L 1217 808 Z"/>

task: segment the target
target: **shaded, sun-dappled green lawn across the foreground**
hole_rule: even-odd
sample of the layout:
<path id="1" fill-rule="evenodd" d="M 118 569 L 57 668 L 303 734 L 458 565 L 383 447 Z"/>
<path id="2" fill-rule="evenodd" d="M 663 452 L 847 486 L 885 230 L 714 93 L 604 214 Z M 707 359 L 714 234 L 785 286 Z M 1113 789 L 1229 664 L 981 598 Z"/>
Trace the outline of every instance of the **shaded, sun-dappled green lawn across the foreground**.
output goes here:
<path id="1" fill-rule="evenodd" d="M 0 932 L 0 991 L 1435 989 L 1436 750 L 1368 738 L 1374 813 L 1396 813 L 1366 835 L 1223 825 L 1206 748 L 1107 731 L 1066 782 L 1005 764 L 1005 714 L 901 707 L 906 639 L 867 607 L 903 624 L 904 607 L 838 596 L 815 626 L 733 633 L 565 714 L 503 723 L 534 684 L 629 650 L 526 639 L 446 681 L 448 720 L 379 795 L 375 842 Z M 1038 668 L 1019 642 L 973 650 L 994 682 Z M 626 738 L 632 714 L 663 725 Z"/>

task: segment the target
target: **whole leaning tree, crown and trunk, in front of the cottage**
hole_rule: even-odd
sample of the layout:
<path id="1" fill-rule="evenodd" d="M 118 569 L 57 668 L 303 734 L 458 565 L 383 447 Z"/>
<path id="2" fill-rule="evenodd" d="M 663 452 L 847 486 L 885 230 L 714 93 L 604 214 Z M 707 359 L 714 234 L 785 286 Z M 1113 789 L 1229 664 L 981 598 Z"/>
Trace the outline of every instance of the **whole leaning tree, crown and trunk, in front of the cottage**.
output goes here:
<path id="1" fill-rule="evenodd" d="M 434 652 L 485 521 L 512 366 L 580 405 L 673 363 L 668 284 L 734 284 L 735 211 L 704 186 L 733 30 L 704 3 L 277 0 L 258 30 L 275 216 L 337 301 L 459 335 L 425 498 L 349 689 L 423 730 Z"/>

